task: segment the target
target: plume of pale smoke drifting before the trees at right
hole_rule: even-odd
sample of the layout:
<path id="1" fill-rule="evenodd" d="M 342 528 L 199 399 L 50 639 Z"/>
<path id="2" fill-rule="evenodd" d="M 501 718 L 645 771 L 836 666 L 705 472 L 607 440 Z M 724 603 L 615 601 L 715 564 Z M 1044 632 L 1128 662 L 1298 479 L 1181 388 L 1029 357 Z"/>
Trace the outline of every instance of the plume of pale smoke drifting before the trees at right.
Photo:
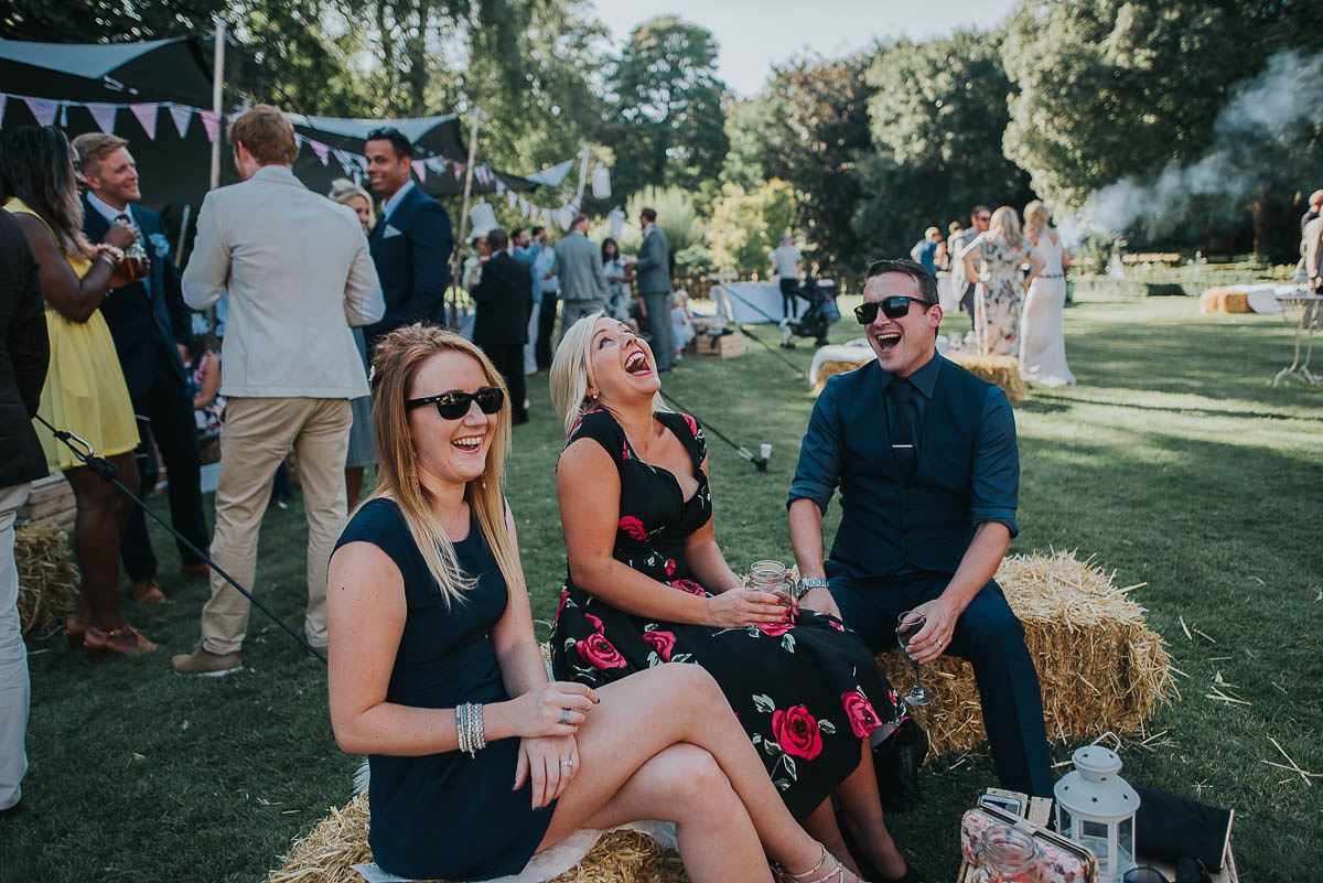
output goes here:
<path id="1" fill-rule="evenodd" d="M 1127 176 L 1094 190 L 1084 209 L 1061 222 L 1062 239 L 1074 246 L 1085 237 L 1114 237 L 1140 223 L 1160 233 L 1201 197 L 1238 205 L 1273 161 L 1267 145 L 1289 143 L 1320 114 L 1323 52 L 1310 57 L 1278 52 L 1257 77 L 1232 86 L 1204 156 L 1189 165 L 1172 160 L 1156 176 Z"/>

